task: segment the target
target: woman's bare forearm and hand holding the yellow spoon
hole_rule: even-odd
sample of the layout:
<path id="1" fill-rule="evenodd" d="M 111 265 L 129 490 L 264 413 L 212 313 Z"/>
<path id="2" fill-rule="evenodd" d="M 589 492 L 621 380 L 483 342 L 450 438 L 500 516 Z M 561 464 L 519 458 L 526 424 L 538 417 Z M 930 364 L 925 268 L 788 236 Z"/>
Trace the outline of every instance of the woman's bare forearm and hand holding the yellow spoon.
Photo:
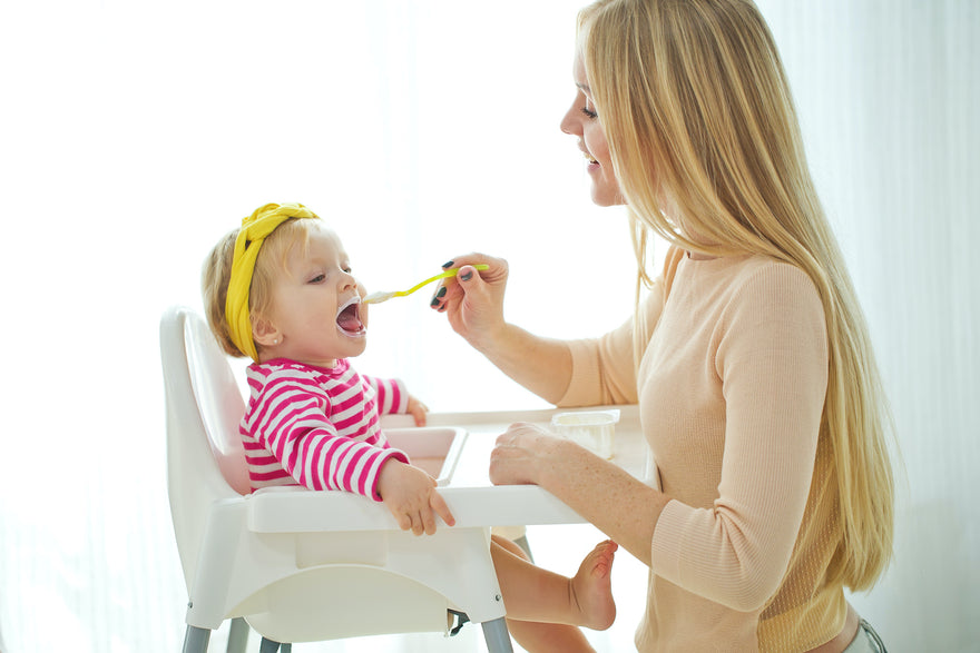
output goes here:
<path id="1" fill-rule="evenodd" d="M 490 269 L 478 273 L 471 267 L 480 263 Z M 564 340 L 536 336 L 503 319 L 507 261 L 471 254 L 447 267 L 460 268 L 459 275 L 437 289 L 432 308 L 445 313 L 453 330 L 501 372 L 557 403 L 571 379 L 571 353 Z"/>

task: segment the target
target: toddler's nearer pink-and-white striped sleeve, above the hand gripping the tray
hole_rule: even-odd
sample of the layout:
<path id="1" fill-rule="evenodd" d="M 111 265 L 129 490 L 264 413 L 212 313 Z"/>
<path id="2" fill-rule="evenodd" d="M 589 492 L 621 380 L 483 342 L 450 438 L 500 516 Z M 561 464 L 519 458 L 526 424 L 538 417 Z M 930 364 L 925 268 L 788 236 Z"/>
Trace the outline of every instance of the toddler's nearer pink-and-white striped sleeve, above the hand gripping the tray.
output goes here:
<path id="1" fill-rule="evenodd" d="M 326 418 L 329 402 L 326 394 L 301 380 L 271 378 L 252 412 L 251 431 L 300 485 L 381 501 L 376 485 L 382 465 L 408 458 L 398 449 L 337 434 Z"/>

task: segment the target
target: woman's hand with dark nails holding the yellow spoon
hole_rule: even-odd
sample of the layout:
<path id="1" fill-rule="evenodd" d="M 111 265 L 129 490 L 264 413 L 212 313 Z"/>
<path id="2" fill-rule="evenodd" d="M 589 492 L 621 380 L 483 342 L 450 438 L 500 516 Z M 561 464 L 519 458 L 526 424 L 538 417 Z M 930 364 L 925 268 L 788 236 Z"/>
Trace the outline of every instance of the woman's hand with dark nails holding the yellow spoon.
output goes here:
<path id="1" fill-rule="evenodd" d="M 490 269 L 478 271 L 477 264 Z M 507 287 L 507 261 L 482 254 L 459 256 L 444 268 L 459 268 L 459 275 L 443 279 L 435 289 L 431 306 L 445 313 L 452 329 L 482 350 L 504 327 L 503 291 Z"/>

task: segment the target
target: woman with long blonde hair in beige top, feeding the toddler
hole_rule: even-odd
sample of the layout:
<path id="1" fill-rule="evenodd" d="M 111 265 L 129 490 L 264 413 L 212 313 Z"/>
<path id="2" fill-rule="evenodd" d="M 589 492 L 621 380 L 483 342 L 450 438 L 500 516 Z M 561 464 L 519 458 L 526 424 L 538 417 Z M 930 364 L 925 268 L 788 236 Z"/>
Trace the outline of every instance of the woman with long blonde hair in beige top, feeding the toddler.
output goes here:
<path id="1" fill-rule="evenodd" d="M 749 0 L 600 0 L 574 81 L 561 129 L 592 200 L 629 208 L 635 317 L 529 334 L 503 317 L 506 261 L 477 254 L 433 308 L 549 402 L 638 403 L 656 486 L 520 424 L 491 478 L 547 488 L 649 565 L 639 651 L 883 651 L 844 587 L 891 556 L 886 407 L 764 20 Z M 656 276 L 650 234 L 672 245 Z"/>

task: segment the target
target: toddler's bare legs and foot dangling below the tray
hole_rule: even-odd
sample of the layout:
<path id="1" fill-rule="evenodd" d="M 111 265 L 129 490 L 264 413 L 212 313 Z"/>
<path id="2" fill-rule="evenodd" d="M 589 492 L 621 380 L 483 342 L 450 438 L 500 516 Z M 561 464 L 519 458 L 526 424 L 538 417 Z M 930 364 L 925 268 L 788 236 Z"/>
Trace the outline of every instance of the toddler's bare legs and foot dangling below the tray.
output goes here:
<path id="1" fill-rule="evenodd" d="M 535 566 L 516 544 L 493 537 L 491 555 L 514 639 L 528 651 L 591 651 L 574 626 L 606 630 L 616 619 L 610 571 L 617 548 L 615 542 L 600 543 L 568 578 Z"/>

